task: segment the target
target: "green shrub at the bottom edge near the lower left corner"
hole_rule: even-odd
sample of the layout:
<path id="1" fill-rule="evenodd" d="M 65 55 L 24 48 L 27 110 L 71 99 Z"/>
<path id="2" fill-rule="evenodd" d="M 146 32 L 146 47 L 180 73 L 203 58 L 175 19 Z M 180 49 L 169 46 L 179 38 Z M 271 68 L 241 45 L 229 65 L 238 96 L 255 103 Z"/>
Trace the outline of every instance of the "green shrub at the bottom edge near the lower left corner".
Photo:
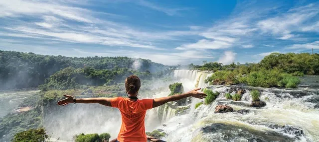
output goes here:
<path id="1" fill-rule="evenodd" d="M 45 128 L 29 129 L 14 135 L 12 142 L 44 142 L 49 136 Z"/>

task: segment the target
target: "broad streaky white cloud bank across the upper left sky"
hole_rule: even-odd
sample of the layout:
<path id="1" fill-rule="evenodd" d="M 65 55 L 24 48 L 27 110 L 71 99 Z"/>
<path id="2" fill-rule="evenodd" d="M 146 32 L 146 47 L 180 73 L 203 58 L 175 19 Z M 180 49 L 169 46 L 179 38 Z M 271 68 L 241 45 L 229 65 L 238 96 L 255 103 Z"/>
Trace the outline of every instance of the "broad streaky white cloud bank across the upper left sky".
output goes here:
<path id="1" fill-rule="evenodd" d="M 20 4 L 12 4 L 20 3 Z M 62 5 L 64 4 L 64 5 Z M 162 50 L 156 40 L 176 40 L 175 37 L 196 34 L 194 31 L 145 32 L 129 26 L 102 20 L 92 15 L 94 11 L 50 1 L 15 0 L 1 1 L 0 9 L 5 17 L 35 16 L 37 22 L 16 22 L 4 26 L 5 36 L 28 38 L 52 38 L 71 43 L 89 43 L 108 46 L 126 46 Z M 9 13 L 9 14 L 8 14 Z M 37 17 L 37 15 L 41 15 Z M 42 21 L 39 21 L 42 20 Z M 80 22 L 79 24 L 73 21 Z M 5 31 L 4 31 L 5 32 Z M 12 34 L 12 32 L 15 32 Z M 22 33 L 22 34 L 21 34 Z"/>

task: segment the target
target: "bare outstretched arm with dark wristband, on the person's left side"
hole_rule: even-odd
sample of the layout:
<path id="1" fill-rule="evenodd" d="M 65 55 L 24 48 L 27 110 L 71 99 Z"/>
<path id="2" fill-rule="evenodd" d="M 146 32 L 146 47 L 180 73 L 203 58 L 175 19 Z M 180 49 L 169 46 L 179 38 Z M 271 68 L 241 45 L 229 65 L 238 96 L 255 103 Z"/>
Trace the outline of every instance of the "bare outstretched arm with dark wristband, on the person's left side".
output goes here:
<path id="1" fill-rule="evenodd" d="M 69 96 L 69 95 L 63 95 L 65 97 L 67 97 L 66 99 L 60 100 L 58 101 L 56 104 L 57 105 L 62 105 L 65 106 L 69 103 L 73 103 L 73 100 L 75 99 L 75 97 L 73 96 Z M 75 99 L 76 103 L 99 103 L 105 106 L 111 106 L 111 98 L 79 98 L 79 99 Z"/>

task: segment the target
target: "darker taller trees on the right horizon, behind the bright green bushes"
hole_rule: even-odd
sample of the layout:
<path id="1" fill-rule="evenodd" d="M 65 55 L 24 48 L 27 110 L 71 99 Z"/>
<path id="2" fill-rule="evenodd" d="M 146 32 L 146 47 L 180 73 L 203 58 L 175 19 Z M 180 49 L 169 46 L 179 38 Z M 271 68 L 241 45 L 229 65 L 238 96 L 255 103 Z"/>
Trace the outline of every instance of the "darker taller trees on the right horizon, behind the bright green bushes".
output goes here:
<path id="1" fill-rule="evenodd" d="M 319 74 L 319 54 L 309 53 L 272 53 L 260 63 L 246 63 L 246 64 L 235 64 L 222 65 L 217 62 L 204 63 L 204 65 L 188 65 L 189 69 L 201 70 L 201 71 L 221 71 L 221 70 L 242 70 L 242 73 L 248 74 L 250 71 L 259 70 L 278 70 L 279 72 L 295 73 L 302 72 L 304 74 Z"/>

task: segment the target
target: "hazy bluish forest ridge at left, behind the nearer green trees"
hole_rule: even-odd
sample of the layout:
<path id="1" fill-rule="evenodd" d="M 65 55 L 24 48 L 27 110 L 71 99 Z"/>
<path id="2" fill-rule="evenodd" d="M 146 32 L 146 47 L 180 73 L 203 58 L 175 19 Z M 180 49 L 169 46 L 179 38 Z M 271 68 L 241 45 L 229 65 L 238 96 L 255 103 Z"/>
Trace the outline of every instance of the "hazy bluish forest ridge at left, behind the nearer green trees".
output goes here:
<path id="1" fill-rule="evenodd" d="M 130 74 L 136 68 L 136 72 L 155 73 L 164 71 L 169 67 L 154 63 L 151 60 L 133 59 L 128 57 L 65 57 L 38 55 L 34 53 L 22 53 L 15 51 L 0 51 L 0 89 L 19 89 L 37 87 L 45 83 L 45 79 L 57 71 L 71 67 L 70 69 L 82 73 L 95 71 L 93 74 L 85 74 L 85 77 L 97 77 L 97 81 L 89 84 L 112 83 L 116 75 Z M 81 68 L 81 69 L 78 69 Z M 123 71 L 126 73 L 123 73 Z M 62 71 L 63 72 L 63 71 Z M 112 78 L 104 79 L 101 73 L 110 73 Z M 60 72 L 61 73 L 61 72 Z M 96 74 L 97 73 L 97 74 Z M 112 74 L 113 73 L 113 74 Z M 160 72 L 158 72 L 160 73 Z M 163 72 L 161 72 L 163 73 Z M 52 76 L 54 77 L 54 76 Z M 72 79 L 72 78 L 71 78 Z M 50 78 L 49 80 L 52 80 Z M 86 79 L 87 80 L 87 79 Z M 72 81 L 72 80 L 68 80 Z"/>

